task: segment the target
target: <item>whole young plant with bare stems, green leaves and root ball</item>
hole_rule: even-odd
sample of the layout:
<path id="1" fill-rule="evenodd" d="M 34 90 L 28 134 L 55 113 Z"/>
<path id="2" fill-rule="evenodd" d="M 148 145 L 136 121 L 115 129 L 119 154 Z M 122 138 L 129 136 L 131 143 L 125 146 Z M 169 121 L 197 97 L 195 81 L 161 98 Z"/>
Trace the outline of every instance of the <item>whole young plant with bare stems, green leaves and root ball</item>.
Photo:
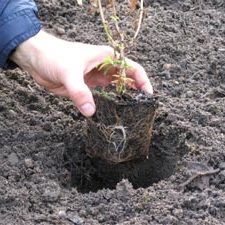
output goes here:
<path id="1" fill-rule="evenodd" d="M 110 4 L 104 9 L 103 0 L 96 1 L 104 32 L 114 49 L 114 54 L 106 57 L 97 69 L 112 78 L 116 90 L 99 87 L 93 91 L 97 110 L 87 120 L 85 151 L 90 157 L 108 163 L 147 158 L 158 104 L 152 95 L 131 89 L 135 81 L 127 76 L 131 65 L 125 57 L 141 28 L 143 0 L 139 11 L 136 11 L 137 0 L 131 0 L 131 8 L 125 2 L 116 4 L 116 0 L 106 0 Z M 136 26 L 132 27 L 130 21 L 134 15 L 136 19 L 132 22 Z"/>

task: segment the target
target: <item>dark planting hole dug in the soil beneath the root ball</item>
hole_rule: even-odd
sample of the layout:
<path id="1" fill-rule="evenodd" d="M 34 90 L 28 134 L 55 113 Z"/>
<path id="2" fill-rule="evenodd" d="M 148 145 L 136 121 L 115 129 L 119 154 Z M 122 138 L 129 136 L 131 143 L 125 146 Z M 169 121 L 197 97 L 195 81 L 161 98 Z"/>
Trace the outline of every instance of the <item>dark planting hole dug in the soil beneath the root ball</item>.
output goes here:
<path id="1" fill-rule="evenodd" d="M 67 142 L 65 161 L 71 174 L 71 185 L 85 193 L 103 188 L 114 189 L 123 178 L 134 188 L 146 188 L 171 176 L 179 160 L 188 152 L 189 132 L 177 125 L 157 119 L 154 125 L 148 159 L 108 164 L 85 153 L 84 137 L 78 135 Z"/>

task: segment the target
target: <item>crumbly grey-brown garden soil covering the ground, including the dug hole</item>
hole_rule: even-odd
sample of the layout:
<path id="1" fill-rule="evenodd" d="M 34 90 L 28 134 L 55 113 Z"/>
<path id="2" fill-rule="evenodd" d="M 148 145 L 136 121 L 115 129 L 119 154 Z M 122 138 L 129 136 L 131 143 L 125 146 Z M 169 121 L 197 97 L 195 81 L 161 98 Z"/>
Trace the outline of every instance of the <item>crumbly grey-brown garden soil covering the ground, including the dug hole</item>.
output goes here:
<path id="1" fill-rule="evenodd" d="M 49 32 L 106 43 L 87 5 L 37 4 Z M 149 158 L 116 167 L 89 158 L 71 101 L 19 69 L 1 71 L 1 225 L 225 224 L 225 3 L 145 4 L 130 58 L 160 101 Z"/>

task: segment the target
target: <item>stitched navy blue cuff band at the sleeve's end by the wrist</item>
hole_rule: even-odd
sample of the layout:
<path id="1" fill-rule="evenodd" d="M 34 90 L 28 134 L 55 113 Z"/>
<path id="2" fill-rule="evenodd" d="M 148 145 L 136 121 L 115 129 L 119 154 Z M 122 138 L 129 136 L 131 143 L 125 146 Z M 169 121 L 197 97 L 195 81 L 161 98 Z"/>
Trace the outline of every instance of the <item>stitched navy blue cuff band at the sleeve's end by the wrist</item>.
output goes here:
<path id="1" fill-rule="evenodd" d="M 9 56 L 22 42 L 41 30 L 41 23 L 32 9 L 24 9 L 0 17 L 0 68 L 10 66 Z"/>

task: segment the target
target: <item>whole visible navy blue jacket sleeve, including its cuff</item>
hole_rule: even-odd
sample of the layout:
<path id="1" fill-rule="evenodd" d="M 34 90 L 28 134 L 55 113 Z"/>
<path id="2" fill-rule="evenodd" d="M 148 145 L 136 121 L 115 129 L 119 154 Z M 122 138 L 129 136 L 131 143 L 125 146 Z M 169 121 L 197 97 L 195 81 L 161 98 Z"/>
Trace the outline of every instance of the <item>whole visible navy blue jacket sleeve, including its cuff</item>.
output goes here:
<path id="1" fill-rule="evenodd" d="M 11 52 L 40 29 L 33 0 L 0 0 L 0 68 L 7 68 Z"/>

